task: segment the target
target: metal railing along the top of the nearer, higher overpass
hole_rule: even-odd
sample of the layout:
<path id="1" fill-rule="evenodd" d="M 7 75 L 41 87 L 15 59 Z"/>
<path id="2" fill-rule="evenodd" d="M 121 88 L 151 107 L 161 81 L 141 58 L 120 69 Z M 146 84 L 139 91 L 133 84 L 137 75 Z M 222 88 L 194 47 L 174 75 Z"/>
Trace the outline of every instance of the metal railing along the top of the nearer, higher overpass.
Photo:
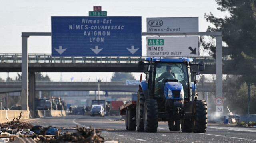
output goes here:
<path id="1" fill-rule="evenodd" d="M 52 57 L 51 54 L 28 54 L 28 63 L 138 63 L 144 61 L 146 55 L 141 57 Z M 204 62 L 216 63 L 211 56 L 191 57 L 192 63 Z M 230 57 L 222 57 L 223 60 L 231 60 Z M 21 63 L 22 54 L 0 54 L 0 63 Z"/>

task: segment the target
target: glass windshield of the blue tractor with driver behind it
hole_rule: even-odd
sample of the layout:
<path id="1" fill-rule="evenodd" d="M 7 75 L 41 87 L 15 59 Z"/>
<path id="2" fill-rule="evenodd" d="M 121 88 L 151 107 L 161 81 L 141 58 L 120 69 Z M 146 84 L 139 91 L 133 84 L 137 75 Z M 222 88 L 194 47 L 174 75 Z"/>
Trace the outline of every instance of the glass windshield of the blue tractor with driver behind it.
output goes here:
<path id="1" fill-rule="evenodd" d="M 178 82 L 180 82 L 183 86 L 185 98 L 189 96 L 189 78 L 186 63 L 157 63 L 154 78 L 156 91 L 154 94 L 155 97 L 163 96 L 163 91 L 157 91 L 163 90 L 166 79 L 173 79 L 174 81 L 178 80 Z"/>

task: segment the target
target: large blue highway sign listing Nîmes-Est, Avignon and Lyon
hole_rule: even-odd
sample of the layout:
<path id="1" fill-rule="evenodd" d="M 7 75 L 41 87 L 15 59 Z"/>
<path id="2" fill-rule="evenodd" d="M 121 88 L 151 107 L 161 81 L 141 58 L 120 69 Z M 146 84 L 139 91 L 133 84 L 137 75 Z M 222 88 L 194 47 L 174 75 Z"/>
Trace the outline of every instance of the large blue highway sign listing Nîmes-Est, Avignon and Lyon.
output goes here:
<path id="1" fill-rule="evenodd" d="M 141 17 L 52 17 L 52 56 L 141 56 Z"/>

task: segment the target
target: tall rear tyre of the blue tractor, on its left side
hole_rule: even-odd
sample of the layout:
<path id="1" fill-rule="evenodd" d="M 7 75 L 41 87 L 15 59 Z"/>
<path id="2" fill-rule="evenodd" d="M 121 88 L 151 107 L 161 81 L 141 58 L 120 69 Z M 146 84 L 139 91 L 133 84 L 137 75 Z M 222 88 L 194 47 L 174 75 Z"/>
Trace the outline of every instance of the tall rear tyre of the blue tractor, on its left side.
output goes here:
<path id="1" fill-rule="evenodd" d="M 144 131 L 144 123 L 143 123 L 144 102 L 145 102 L 144 94 L 142 90 L 138 90 L 137 104 L 136 104 L 137 131 Z"/>

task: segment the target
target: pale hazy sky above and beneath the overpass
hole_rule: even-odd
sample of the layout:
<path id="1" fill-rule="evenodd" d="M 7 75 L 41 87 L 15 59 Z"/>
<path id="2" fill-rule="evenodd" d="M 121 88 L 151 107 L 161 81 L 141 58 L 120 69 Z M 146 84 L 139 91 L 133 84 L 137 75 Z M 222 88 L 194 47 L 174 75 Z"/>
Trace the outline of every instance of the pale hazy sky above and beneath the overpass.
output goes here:
<path id="1" fill-rule="evenodd" d="M 146 18 L 198 17 L 199 32 L 212 26 L 204 14 L 224 18 L 227 13 L 217 10 L 214 0 L 0 0 L 0 53 L 21 53 L 22 32 L 51 32 L 51 16 L 88 16 L 93 6 L 102 6 L 107 16 L 141 16 L 142 32 L 146 32 Z M 28 38 L 28 53 L 51 54 L 50 36 Z M 142 55 L 146 55 L 146 37 L 142 37 Z M 86 81 L 110 80 L 112 72 L 43 73 L 51 80 Z M 140 73 L 132 73 L 136 80 Z M 2 79 L 6 72 L 0 72 Z M 15 78 L 17 73 L 9 73 Z"/>

